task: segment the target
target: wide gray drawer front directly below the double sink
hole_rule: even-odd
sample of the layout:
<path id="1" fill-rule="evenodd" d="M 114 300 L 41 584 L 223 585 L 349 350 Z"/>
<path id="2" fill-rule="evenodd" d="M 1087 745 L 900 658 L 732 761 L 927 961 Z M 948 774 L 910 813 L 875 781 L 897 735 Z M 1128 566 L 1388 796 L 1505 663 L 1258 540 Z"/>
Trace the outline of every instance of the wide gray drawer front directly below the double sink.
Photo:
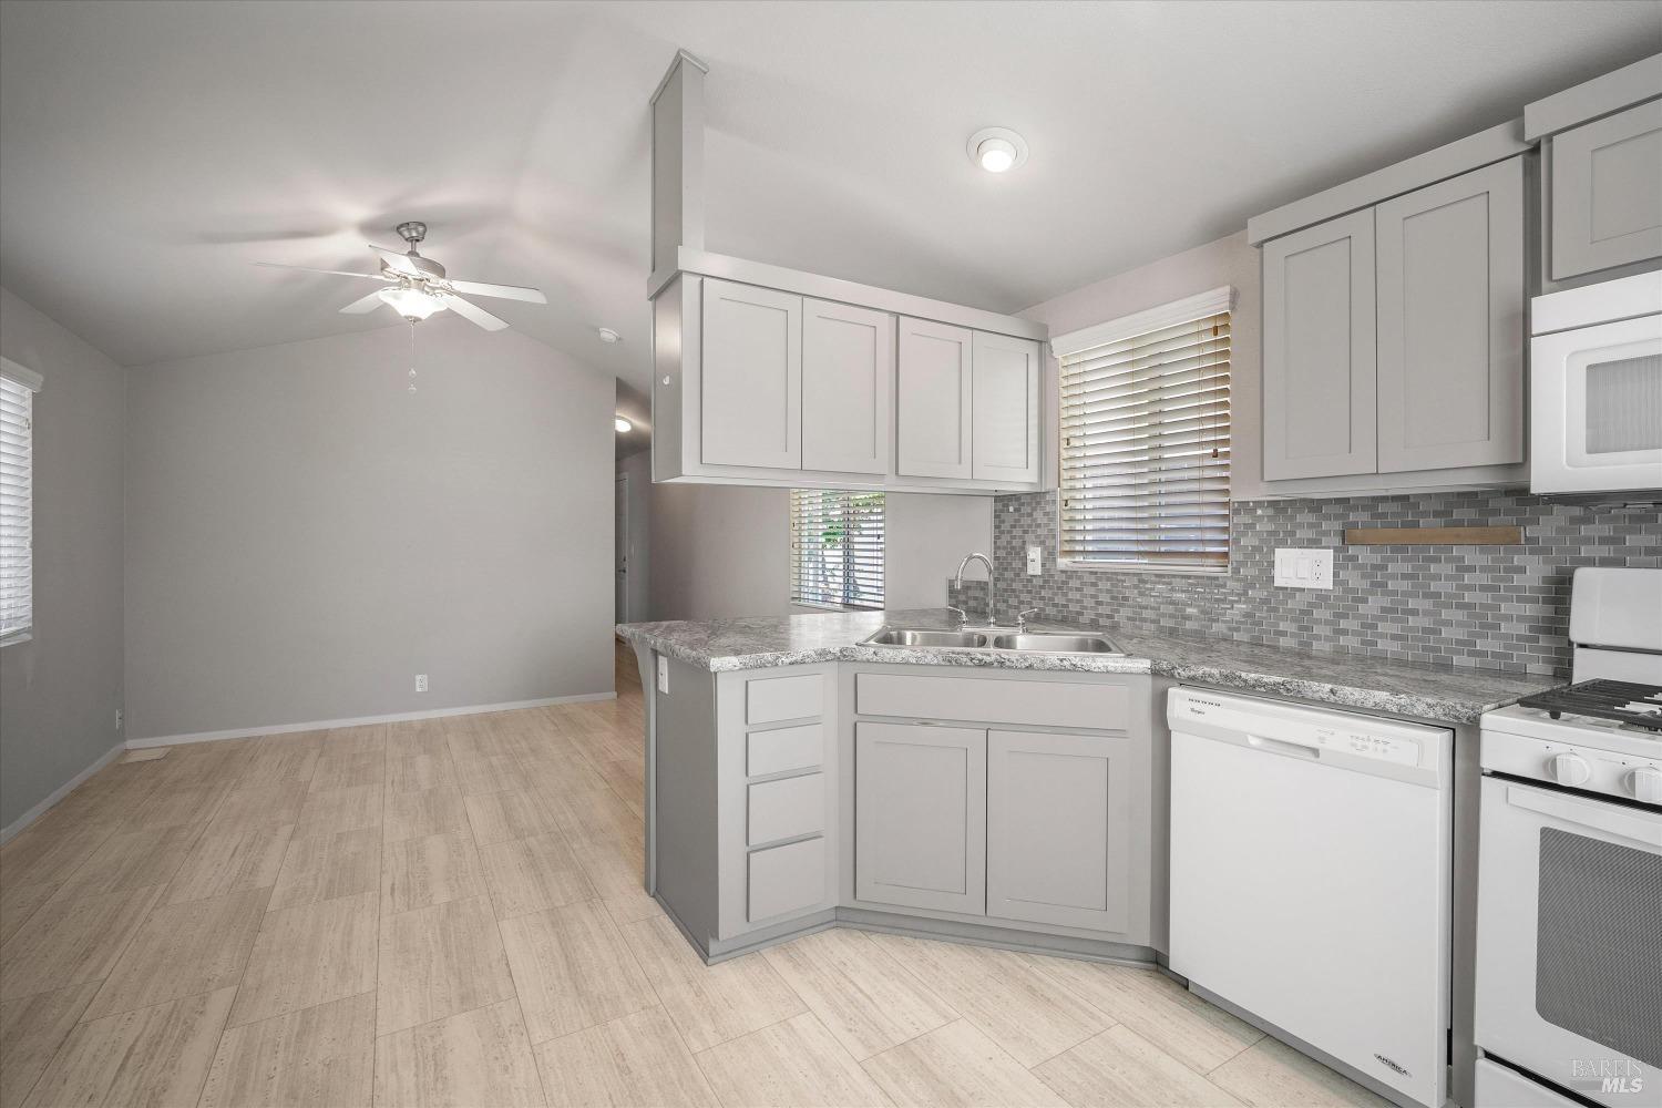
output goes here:
<path id="1" fill-rule="evenodd" d="M 854 711 L 863 716 L 1124 731 L 1130 723 L 1130 693 L 1124 684 L 861 673 L 854 678 Z"/>

